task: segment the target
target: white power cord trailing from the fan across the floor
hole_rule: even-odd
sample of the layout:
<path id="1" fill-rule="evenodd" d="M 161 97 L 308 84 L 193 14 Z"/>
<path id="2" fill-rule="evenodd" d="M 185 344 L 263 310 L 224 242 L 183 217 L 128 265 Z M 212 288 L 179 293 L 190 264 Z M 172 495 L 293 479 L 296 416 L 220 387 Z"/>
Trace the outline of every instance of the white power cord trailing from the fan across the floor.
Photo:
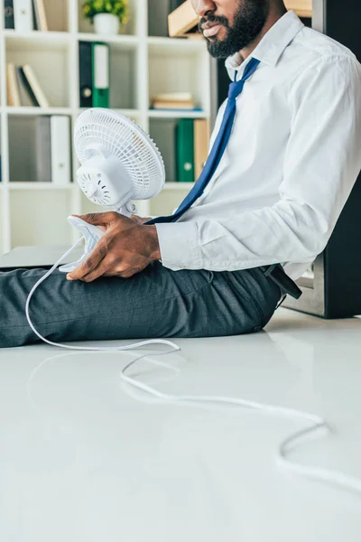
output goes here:
<path id="1" fill-rule="evenodd" d="M 51 275 L 51 273 L 56 269 L 57 266 L 59 266 L 63 260 L 69 256 L 69 254 L 74 250 L 74 248 L 78 247 L 79 243 L 83 240 L 83 238 L 80 238 L 73 247 L 69 248 L 69 250 L 62 256 L 60 259 L 54 264 L 51 269 L 44 275 L 38 282 L 32 287 L 32 290 L 26 300 L 26 307 L 25 307 L 25 313 L 27 321 L 29 322 L 30 327 L 32 328 L 32 331 L 41 339 L 42 341 L 50 344 L 51 346 L 57 346 L 63 349 L 67 350 L 84 350 L 84 351 L 121 351 L 121 350 L 134 350 L 137 348 L 140 348 L 142 346 L 146 346 L 148 344 L 165 344 L 167 346 L 171 347 L 171 350 L 165 350 L 165 351 L 158 351 L 154 352 L 156 355 L 165 355 L 169 353 L 173 353 L 176 351 L 180 351 L 180 347 L 175 344 L 172 341 L 166 341 L 163 339 L 154 339 L 149 341 L 141 341 L 141 342 L 135 342 L 134 344 L 130 344 L 128 346 L 118 346 L 118 347 L 80 347 L 80 346 L 70 346 L 67 344 L 60 344 L 58 342 L 48 341 L 44 337 L 42 337 L 41 333 L 39 333 L 34 325 L 32 324 L 32 320 L 30 318 L 29 313 L 29 307 L 30 302 L 32 299 L 32 295 L 35 293 L 36 289 L 39 287 L 39 285 L 42 284 L 48 276 Z M 301 474 L 303 476 L 307 476 L 308 478 L 328 482 L 331 484 L 335 484 L 340 486 L 341 488 L 347 490 L 347 491 L 356 491 L 356 493 L 359 493 L 361 495 L 361 480 L 353 477 L 348 476 L 347 474 L 344 474 L 342 472 L 336 472 L 331 471 L 329 469 L 324 469 L 322 467 L 313 466 L 313 465 L 305 465 L 302 463 L 297 463 L 295 461 L 290 460 L 287 456 L 289 453 L 290 447 L 292 445 L 294 446 L 297 444 L 298 441 L 301 440 L 301 438 L 314 434 L 316 432 L 319 432 L 321 429 L 326 430 L 328 433 L 331 433 L 331 428 L 328 424 L 328 422 L 325 420 L 325 418 L 310 414 L 308 412 L 302 412 L 301 410 L 295 410 L 293 408 L 288 408 L 285 406 L 274 406 L 274 405 L 267 405 L 263 403 L 257 403 L 255 401 L 249 401 L 246 399 L 240 399 L 237 397 L 220 397 L 220 396 L 176 396 L 171 394 L 162 393 L 162 391 L 159 391 L 156 388 L 153 388 L 151 386 L 148 386 L 146 384 L 143 384 L 143 382 L 140 382 L 139 380 L 136 380 L 135 378 L 128 377 L 126 375 L 128 369 L 134 366 L 135 363 L 137 363 L 142 358 L 148 356 L 149 354 L 143 354 L 142 356 L 136 358 L 135 360 L 132 360 L 130 363 L 125 365 L 125 368 L 121 371 L 121 378 L 131 386 L 134 386 L 134 388 L 138 388 L 143 390 L 146 393 L 149 393 L 153 397 L 160 398 L 164 401 L 168 402 L 176 402 L 176 403 L 217 403 L 217 404 L 223 404 L 223 405 L 236 405 L 236 406 L 243 406 L 246 408 L 252 408 L 259 410 L 263 412 L 264 414 L 268 415 L 278 415 L 278 416 L 287 416 L 292 418 L 299 418 L 306 420 L 307 422 L 310 422 L 310 425 L 307 427 L 293 432 L 291 435 L 287 436 L 281 444 L 278 446 L 277 450 L 277 462 L 282 466 L 282 468 L 287 469 L 288 471 L 295 472 L 297 474 Z"/>

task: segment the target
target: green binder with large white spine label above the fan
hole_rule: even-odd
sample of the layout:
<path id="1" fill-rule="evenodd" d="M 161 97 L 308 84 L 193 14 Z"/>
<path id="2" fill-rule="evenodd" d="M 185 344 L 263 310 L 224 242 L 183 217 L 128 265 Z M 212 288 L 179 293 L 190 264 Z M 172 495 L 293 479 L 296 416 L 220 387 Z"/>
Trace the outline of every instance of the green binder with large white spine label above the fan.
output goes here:
<path id="1" fill-rule="evenodd" d="M 93 52 L 93 107 L 109 107 L 109 45 L 92 43 Z"/>

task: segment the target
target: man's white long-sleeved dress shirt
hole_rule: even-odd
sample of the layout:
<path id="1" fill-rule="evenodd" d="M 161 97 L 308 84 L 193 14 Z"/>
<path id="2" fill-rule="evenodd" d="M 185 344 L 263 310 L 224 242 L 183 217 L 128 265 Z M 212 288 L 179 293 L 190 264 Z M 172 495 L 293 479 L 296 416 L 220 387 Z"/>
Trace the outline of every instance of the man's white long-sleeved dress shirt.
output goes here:
<path id="1" fill-rule="evenodd" d="M 361 169 L 361 66 L 292 11 L 232 80 L 261 61 L 237 98 L 226 152 L 206 191 L 175 223 L 157 224 L 162 265 L 235 271 L 281 263 L 299 278 L 326 247 Z M 218 133 L 226 103 L 211 137 Z"/>

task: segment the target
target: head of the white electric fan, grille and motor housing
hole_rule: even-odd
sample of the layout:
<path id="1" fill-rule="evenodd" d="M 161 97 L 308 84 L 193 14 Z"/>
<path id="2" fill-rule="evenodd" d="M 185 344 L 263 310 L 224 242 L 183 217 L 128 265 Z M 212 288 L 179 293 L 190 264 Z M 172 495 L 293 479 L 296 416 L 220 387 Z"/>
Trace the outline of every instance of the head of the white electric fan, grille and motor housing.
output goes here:
<path id="1" fill-rule="evenodd" d="M 77 180 L 90 201 L 125 216 L 136 211 L 133 200 L 148 200 L 165 182 L 162 155 L 153 139 L 121 113 L 91 108 L 74 128 L 81 167 Z"/>

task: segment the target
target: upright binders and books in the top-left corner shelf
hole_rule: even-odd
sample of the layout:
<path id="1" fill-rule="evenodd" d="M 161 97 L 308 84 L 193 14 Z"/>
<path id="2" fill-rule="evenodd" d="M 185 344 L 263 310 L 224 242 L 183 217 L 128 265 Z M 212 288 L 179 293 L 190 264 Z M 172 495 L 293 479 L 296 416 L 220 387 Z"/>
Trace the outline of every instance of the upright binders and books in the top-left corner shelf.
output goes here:
<path id="1" fill-rule="evenodd" d="M 17 32 L 41 30 L 47 32 L 43 0 L 5 0 L 5 28 Z"/>

